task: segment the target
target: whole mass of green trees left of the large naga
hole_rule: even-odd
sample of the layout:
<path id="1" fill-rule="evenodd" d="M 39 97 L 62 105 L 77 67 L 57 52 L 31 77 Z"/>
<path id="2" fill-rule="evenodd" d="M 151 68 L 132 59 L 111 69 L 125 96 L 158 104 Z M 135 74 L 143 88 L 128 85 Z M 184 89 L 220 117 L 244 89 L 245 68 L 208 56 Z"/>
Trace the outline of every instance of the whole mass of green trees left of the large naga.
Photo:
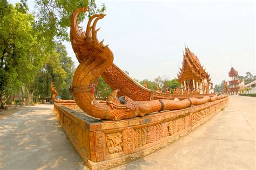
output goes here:
<path id="1" fill-rule="evenodd" d="M 61 45 L 69 40 L 71 13 L 88 5 L 92 15 L 105 6 L 98 9 L 95 1 L 84 0 L 35 0 L 37 11 L 32 14 L 27 4 L 27 0 L 15 5 L 0 1 L 0 101 L 21 92 L 28 101 L 33 96 L 50 97 L 52 81 L 63 98 L 72 98 L 69 88 L 75 67 Z"/>

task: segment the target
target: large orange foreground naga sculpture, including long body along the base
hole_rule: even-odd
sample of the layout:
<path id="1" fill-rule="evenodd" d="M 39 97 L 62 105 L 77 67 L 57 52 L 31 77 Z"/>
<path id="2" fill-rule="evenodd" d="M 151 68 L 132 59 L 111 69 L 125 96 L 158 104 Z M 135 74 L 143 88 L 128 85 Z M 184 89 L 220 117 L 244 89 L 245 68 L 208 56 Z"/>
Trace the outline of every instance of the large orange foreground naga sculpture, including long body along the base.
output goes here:
<path id="1" fill-rule="evenodd" d="M 113 67 L 113 53 L 108 46 L 103 44 L 103 40 L 97 39 L 99 29 L 96 30 L 96 24 L 105 15 L 93 15 L 87 23 L 85 32 L 78 26 L 78 14 L 86 11 L 87 8 L 79 8 L 72 14 L 70 29 L 73 51 L 80 62 L 73 76 L 71 91 L 77 105 L 86 114 L 100 119 L 117 121 L 144 116 L 157 111 L 184 109 L 191 105 L 204 104 L 225 97 L 205 96 L 200 99 L 186 98 L 182 101 L 164 99 L 133 101 L 127 96 L 117 98 L 119 90 L 116 89 L 107 97 L 107 101 L 96 101 L 94 96 L 95 84 L 97 86 L 97 79 L 101 74 Z"/>

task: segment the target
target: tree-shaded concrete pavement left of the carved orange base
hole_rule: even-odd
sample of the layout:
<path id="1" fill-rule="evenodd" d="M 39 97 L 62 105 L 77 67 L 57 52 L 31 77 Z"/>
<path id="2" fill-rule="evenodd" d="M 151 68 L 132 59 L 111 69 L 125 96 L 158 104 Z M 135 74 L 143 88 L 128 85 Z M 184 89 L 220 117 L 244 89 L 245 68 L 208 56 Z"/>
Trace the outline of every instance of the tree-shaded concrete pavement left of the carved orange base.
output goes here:
<path id="1" fill-rule="evenodd" d="M 86 167 L 52 109 L 40 104 L 0 118 L 0 169 Z"/>

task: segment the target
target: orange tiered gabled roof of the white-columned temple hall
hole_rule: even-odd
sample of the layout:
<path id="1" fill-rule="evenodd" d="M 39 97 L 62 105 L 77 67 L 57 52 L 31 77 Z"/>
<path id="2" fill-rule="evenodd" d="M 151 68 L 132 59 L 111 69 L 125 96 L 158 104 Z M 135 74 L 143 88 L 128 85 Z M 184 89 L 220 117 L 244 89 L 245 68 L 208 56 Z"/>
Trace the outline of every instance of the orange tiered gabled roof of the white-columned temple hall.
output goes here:
<path id="1" fill-rule="evenodd" d="M 201 66 L 198 57 L 190 51 L 188 47 L 185 47 L 185 53 L 183 53 L 182 68 L 179 68 L 180 72 L 177 74 L 178 81 L 182 82 L 186 79 L 196 79 L 201 81 L 206 79 L 210 83 L 210 74 L 206 73 L 203 66 Z"/>

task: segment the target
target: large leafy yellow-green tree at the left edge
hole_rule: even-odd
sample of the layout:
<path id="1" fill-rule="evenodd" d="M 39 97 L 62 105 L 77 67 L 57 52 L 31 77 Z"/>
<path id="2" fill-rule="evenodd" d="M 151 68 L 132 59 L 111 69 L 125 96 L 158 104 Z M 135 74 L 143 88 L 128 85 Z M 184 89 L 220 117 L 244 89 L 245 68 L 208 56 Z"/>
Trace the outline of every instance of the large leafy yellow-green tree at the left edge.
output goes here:
<path id="1" fill-rule="evenodd" d="M 29 83 L 42 66 L 41 40 L 33 30 L 34 17 L 21 4 L 1 3 L 0 12 L 0 101 Z M 5 100 L 3 100 L 5 98 Z"/>

